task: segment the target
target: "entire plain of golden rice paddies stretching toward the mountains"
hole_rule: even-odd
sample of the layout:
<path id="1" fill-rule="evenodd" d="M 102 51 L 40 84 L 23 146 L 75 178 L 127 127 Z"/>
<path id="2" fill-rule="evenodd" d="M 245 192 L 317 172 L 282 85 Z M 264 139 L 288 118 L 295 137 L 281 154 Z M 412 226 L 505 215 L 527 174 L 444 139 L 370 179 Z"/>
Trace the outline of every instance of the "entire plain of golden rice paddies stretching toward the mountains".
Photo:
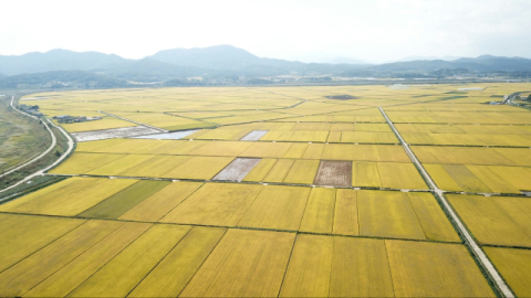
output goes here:
<path id="1" fill-rule="evenodd" d="M 379 108 L 510 289 L 530 296 L 531 117 L 487 104 L 529 89 L 29 95 L 48 117 L 103 117 L 69 132 L 190 131 L 81 141 L 46 173 L 64 180 L 2 202 L 0 296 L 500 296 Z"/>

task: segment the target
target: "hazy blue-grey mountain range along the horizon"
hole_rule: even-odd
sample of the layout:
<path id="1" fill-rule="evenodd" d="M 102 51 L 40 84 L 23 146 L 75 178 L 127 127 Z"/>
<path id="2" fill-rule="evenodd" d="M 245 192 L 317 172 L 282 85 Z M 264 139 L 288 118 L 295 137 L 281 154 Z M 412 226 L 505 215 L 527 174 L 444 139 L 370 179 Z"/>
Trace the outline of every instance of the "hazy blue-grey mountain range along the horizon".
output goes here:
<path id="1" fill-rule="evenodd" d="M 174 49 L 157 52 L 140 60 L 124 58 L 114 54 L 98 52 L 73 52 L 52 50 L 46 53 L 23 55 L 0 55 L 1 82 L 23 82 L 21 77 L 38 77 L 34 74 L 46 73 L 46 79 L 53 75 L 64 78 L 64 72 L 80 76 L 82 72 L 102 76 L 108 82 L 164 82 L 201 76 L 219 77 L 264 77 L 279 75 L 302 76 L 372 76 L 408 77 L 439 76 L 456 73 L 531 73 L 531 60 L 523 57 L 503 57 L 482 55 L 479 57 L 421 57 L 413 56 L 405 61 L 364 64 L 345 57 L 330 63 L 302 63 L 277 58 L 259 57 L 246 50 L 231 45 L 216 45 L 202 49 Z M 30 75 L 33 74 L 33 75 Z M 17 77 L 21 76 L 21 77 Z M 37 82 L 35 79 L 33 79 Z M 32 82 L 33 82 L 32 81 Z M 14 83 L 10 83 L 11 85 Z M 3 84 L 6 86 L 6 84 Z"/>

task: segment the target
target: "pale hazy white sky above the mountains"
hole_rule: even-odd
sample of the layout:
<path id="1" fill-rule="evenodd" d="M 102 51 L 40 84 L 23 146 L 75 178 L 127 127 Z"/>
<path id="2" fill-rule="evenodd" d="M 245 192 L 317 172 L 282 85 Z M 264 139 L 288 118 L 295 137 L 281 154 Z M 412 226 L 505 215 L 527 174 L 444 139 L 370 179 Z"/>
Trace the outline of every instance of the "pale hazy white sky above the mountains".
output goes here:
<path id="1" fill-rule="evenodd" d="M 531 57 L 531 0 L 2 1 L 0 54 L 61 47 L 139 58 L 232 44 L 266 57 Z"/>

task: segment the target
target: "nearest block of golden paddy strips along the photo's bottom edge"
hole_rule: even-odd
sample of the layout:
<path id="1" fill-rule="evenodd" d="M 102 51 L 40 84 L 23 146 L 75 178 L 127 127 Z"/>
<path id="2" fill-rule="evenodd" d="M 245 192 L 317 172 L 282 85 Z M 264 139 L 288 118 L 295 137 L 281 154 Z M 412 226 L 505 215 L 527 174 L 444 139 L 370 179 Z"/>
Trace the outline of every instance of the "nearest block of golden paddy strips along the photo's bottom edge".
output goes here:
<path id="1" fill-rule="evenodd" d="M 13 214 L 0 225 L 23 235 L 1 244 L 17 252 L 1 256 L 2 296 L 494 295 L 462 244 Z"/>

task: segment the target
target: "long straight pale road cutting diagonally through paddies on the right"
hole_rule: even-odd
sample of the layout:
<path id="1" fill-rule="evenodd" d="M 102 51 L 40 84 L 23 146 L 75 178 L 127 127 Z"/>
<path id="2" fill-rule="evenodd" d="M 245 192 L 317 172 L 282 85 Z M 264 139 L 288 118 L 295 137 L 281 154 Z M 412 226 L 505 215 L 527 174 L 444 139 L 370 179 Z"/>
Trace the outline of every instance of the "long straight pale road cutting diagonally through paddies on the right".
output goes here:
<path id="1" fill-rule="evenodd" d="M 435 184 L 434 180 L 431 180 L 431 177 L 429 177 L 426 169 L 424 169 L 424 166 L 418 161 L 415 153 L 413 153 L 412 149 L 409 148 L 409 145 L 404 140 L 404 138 L 402 138 L 400 134 L 395 128 L 389 117 L 387 117 L 387 114 L 385 114 L 384 109 L 382 107 L 378 107 L 378 108 L 382 115 L 384 116 L 385 120 L 387 121 L 387 124 L 391 126 L 391 128 L 395 132 L 396 137 L 398 137 L 398 139 L 400 140 L 400 143 L 404 147 L 404 150 L 406 150 L 406 153 L 409 156 L 412 161 L 417 166 L 417 169 L 419 169 L 420 174 L 424 177 L 424 179 L 428 182 L 429 188 L 440 199 L 440 202 L 442 202 L 445 210 L 447 211 L 448 214 L 450 214 L 451 219 L 457 224 L 457 228 L 459 230 L 460 234 L 465 236 L 465 241 L 466 241 L 465 244 L 471 249 L 476 258 L 481 263 L 481 266 L 489 274 L 491 280 L 494 283 L 494 286 L 504 297 L 514 297 L 514 294 L 512 294 L 512 291 L 509 289 L 506 281 L 501 278 L 500 274 L 496 270 L 492 263 L 490 263 L 490 259 L 485 255 L 483 251 L 481 251 L 481 248 L 472 238 L 470 233 L 468 233 L 461 220 L 454 212 L 454 210 L 451 209 L 450 204 L 448 203 L 448 201 L 444 195 L 444 191 L 437 188 L 437 184 Z"/>

